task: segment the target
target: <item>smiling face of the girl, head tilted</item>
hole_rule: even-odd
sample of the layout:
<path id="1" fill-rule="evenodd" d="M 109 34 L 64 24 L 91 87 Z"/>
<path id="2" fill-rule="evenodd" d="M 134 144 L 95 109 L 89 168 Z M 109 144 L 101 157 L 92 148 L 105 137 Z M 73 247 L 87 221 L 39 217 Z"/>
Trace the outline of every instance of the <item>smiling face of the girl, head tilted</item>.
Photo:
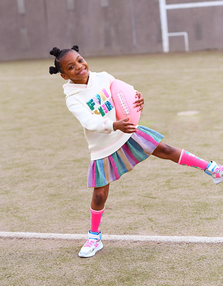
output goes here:
<path id="1" fill-rule="evenodd" d="M 79 53 L 70 51 L 65 55 L 60 64 L 63 70 L 63 74 L 61 74 L 62 78 L 65 80 L 70 79 L 75 84 L 87 84 L 89 67 Z"/>

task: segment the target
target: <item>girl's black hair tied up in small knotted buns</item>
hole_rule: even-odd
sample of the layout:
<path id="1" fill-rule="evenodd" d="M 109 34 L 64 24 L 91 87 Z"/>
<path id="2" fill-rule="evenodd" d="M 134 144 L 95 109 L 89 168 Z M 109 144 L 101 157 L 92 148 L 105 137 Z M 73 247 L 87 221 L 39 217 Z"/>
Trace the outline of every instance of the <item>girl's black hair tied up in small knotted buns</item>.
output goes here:
<path id="1" fill-rule="evenodd" d="M 55 67 L 49 67 L 50 74 L 57 74 L 58 72 L 60 72 L 61 74 L 63 73 L 63 70 L 60 65 L 61 59 L 72 50 L 79 52 L 79 47 L 76 45 L 76 46 L 73 46 L 71 49 L 63 49 L 63 50 L 60 50 L 57 47 L 54 47 L 49 52 L 51 55 L 55 56 L 55 61 L 54 61 Z"/>

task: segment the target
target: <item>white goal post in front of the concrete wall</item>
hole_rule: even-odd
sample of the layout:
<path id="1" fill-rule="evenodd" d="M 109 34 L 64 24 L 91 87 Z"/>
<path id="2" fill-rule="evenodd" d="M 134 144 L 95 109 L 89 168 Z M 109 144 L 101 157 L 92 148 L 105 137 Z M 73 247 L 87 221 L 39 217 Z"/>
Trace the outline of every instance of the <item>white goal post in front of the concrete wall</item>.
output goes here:
<path id="1" fill-rule="evenodd" d="M 188 33 L 185 31 L 175 32 L 175 33 L 168 32 L 167 10 L 223 6 L 223 1 L 218 0 L 218 1 L 166 4 L 166 0 L 159 0 L 159 5 L 160 5 L 160 23 L 162 32 L 163 52 L 168 53 L 170 51 L 169 37 L 184 36 L 185 51 L 189 51 L 189 42 L 188 42 Z"/>

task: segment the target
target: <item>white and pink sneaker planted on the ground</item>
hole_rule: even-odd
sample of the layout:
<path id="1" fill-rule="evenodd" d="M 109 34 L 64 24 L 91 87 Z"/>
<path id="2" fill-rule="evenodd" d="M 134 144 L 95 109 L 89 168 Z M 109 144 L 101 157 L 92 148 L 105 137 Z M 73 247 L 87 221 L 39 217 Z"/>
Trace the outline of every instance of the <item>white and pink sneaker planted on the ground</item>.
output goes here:
<path id="1" fill-rule="evenodd" d="M 85 244 L 81 247 L 79 252 L 80 257 L 91 257 L 95 255 L 97 251 L 103 248 L 103 244 L 101 242 L 101 232 L 99 234 L 92 234 L 90 231 L 88 232 L 88 239 Z"/>

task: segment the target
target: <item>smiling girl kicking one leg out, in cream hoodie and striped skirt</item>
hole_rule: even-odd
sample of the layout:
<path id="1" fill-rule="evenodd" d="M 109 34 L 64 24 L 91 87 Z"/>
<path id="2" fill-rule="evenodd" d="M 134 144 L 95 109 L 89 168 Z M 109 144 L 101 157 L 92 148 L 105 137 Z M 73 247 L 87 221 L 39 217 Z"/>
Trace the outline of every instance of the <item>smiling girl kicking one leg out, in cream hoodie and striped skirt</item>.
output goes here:
<path id="1" fill-rule="evenodd" d="M 63 85 L 67 108 L 79 120 L 91 152 L 87 186 L 93 187 L 91 200 L 91 229 L 87 242 L 79 252 L 80 257 L 90 257 L 102 249 L 100 226 L 107 200 L 109 183 L 131 171 L 136 164 L 151 154 L 172 160 L 180 165 L 204 170 L 214 183 L 223 181 L 223 166 L 209 163 L 190 152 L 161 142 L 163 135 L 144 126 L 129 122 L 129 117 L 116 121 L 116 111 L 111 99 L 110 86 L 115 79 L 106 72 L 90 72 L 78 46 L 60 50 L 54 47 L 55 67 L 50 74 L 61 73 L 69 80 Z M 136 91 L 134 107 L 143 109 L 144 99 Z"/>

